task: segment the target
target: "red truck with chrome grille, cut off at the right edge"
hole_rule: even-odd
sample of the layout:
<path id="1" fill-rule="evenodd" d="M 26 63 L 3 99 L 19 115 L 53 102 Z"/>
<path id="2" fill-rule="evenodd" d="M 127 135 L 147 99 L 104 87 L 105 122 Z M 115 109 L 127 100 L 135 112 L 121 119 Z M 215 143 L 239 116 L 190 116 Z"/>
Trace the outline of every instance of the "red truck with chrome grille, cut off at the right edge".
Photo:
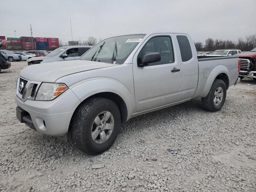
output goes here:
<path id="1" fill-rule="evenodd" d="M 237 54 L 240 60 L 240 72 L 239 77 L 251 78 L 256 82 L 256 48 L 250 52 L 244 52 Z"/>

